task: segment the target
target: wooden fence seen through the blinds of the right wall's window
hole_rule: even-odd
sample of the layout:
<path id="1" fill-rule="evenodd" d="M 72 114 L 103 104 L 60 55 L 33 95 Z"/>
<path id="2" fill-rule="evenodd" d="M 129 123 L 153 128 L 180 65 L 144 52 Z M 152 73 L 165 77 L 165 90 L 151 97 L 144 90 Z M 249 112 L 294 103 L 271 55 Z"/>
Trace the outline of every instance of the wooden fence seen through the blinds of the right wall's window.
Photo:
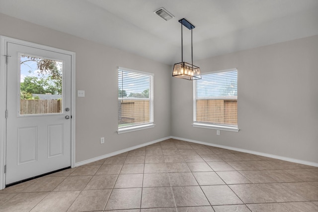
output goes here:
<path id="1" fill-rule="evenodd" d="M 198 122 L 238 125 L 237 100 L 198 100 Z"/>

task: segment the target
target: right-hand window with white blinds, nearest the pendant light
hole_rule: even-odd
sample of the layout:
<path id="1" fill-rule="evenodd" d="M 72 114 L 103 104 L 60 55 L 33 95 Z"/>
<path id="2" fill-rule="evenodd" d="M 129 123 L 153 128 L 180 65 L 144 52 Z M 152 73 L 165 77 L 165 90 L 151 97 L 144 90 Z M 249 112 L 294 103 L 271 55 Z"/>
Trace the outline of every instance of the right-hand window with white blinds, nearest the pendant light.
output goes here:
<path id="1" fill-rule="evenodd" d="M 193 126 L 239 131 L 237 69 L 202 74 L 193 88 Z"/>

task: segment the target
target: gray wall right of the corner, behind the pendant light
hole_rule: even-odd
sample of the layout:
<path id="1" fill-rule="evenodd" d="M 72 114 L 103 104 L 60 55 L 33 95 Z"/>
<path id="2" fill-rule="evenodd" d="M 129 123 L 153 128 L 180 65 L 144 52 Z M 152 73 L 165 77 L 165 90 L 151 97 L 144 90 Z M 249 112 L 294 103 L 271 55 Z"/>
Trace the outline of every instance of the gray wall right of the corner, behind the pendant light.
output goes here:
<path id="1" fill-rule="evenodd" d="M 195 62 L 238 69 L 239 132 L 192 127 L 192 82 L 172 79 L 172 135 L 318 163 L 318 35 Z"/>

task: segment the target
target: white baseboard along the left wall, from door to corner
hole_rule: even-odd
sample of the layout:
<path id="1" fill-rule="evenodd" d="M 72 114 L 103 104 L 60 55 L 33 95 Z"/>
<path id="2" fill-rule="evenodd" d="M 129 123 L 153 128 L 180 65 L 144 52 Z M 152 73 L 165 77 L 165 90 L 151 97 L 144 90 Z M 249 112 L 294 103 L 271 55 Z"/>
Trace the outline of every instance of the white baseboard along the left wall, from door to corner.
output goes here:
<path id="1" fill-rule="evenodd" d="M 91 158 L 91 159 L 88 159 L 88 160 L 84 160 L 84 161 L 76 163 L 75 166 L 76 167 L 77 166 L 82 166 L 82 165 L 85 165 L 85 164 L 88 164 L 88 163 L 92 163 L 92 162 L 95 162 L 95 161 L 98 161 L 98 160 L 101 160 L 101 159 L 109 158 L 109 157 L 114 156 L 114 155 L 119 155 L 119 154 L 124 153 L 124 152 L 128 152 L 128 151 L 131 151 L 131 150 L 134 150 L 134 149 L 138 149 L 138 148 L 141 148 L 141 147 L 144 147 L 144 146 L 148 146 L 148 145 L 151 145 L 151 144 L 154 144 L 154 143 L 158 143 L 160 141 L 164 141 L 164 140 L 167 140 L 167 139 L 170 139 L 170 138 L 171 138 L 171 136 L 160 138 L 158 140 L 150 141 L 150 142 L 143 143 L 143 144 L 140 144 L 140 145 L 137 145 L 137 146 L 129 147 L 129 148 L 122 149 L 122 150 L 119 150 L 119 151 L 116 151 L 116 152 L 112 152 L 112 153 L 109 153 L 109 154 L 106 154 L 106 155 L 102 155 L 102 156 L 99 156 L 99 157 L 95 157 L 95 158 Z"/>

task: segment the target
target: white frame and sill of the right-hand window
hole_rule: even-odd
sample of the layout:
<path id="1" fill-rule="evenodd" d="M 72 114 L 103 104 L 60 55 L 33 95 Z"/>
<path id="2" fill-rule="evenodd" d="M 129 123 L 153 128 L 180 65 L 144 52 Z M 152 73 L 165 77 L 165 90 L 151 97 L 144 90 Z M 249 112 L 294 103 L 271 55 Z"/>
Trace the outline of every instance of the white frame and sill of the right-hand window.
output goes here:
<path id="1" fill-rule="evenodd" d="M 234 69 L 226 69 L 226 70 L 220 70 L 220 71 L 212 71 L 212 72 L 207 72 L 207 73 L 202 73 L 201 75 L 209 75 L 209 74 L 217 74 L 217 73 L 224 73 L 224 72 L 232 72 L 232 71 L 237 71 L 238 73 L 238 69 L 234 68 Z M 238 82 L 238 78 L 237 78 L 237 82 Z M 238 96 L 239 93 L 237 95 L 237 98 L 222 98 L 223 100 L 233 100 L 236 99 L 238 101 Z M 196 108 L 196 101 L 199 98 L 197 98 L 197 80 L 193 81 L 193 123 L 192 126 L 193 127 L 200 127 L 200 128 L 208 128 L 208 129 L 217 129 L 217 130 L 226 130 L 226 131 L 233 131 L 233 132 L 239 132 L 239 121 L 238 121 L 238 125 L 231 125 L 231 124 L 218 124 L 218 123 L 208 123 L 208 122 L 200 122 L 200 121 L 196 121 L 196 113 L 197 113 L 197 108 Z M 221 99 L 221 98 L 204 98 L 204 99 Z M 237 114 L 237 117 L 239 119 L 239 114 Z"/>

